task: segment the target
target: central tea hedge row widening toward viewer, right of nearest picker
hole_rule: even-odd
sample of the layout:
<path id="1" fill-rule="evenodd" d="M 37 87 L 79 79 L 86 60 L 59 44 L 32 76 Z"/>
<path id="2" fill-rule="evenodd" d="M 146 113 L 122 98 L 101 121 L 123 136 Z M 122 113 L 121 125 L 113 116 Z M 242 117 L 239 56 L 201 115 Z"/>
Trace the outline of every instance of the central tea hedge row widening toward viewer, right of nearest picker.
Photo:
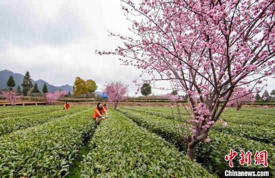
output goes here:
<path id="1" fill-rule="evenodd" d="M 172 144 L 111 110 L 90 140 L 82 177 L 209 177 Z"/>

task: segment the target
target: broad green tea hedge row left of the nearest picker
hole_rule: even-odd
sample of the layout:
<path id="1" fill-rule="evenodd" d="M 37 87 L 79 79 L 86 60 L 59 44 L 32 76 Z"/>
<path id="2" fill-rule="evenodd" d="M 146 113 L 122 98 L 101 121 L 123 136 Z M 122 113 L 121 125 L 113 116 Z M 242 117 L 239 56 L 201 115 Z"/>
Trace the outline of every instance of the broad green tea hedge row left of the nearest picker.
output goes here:
<path id="1" fill-rule="evenodd" d="M 58 177 L 69 171 L 84 137 L 94 130 L 90 110 L 0 137 L 1 177 Z"/>

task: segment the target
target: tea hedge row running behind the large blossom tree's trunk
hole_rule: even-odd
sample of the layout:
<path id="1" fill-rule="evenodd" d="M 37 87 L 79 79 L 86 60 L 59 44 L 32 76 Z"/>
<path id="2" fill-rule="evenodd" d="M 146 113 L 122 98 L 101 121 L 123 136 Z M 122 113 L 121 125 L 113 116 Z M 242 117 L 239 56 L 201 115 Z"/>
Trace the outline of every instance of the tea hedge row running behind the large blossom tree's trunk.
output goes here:
<path id="1" fill-rule="evenodd" d="M 155 115 L 139 113 L 129 109 L 121 109 L 122 112 L 138 125 L 162 136 L 170 143 L 175 144 L 177 147 L 186 152 L 187 145 L 184 141 L 184 135 L 177 127 L 179 123 L 176 120 L 164 119 Z M 185 132 L 182 130 L 183 133 Z M 201 142 L 196 146 L 195 158 L 198 162 L 203 163 L 210 172 L 220 172 L 223 168 L 228 168 L 228 162 L 224 160 L 225 154 L 230 149 L 234 149 L 240 153 L 240 149 L 245 151 L 250 150 L 255 153 L 256 150 L 267 150 L 269 167 L 274 166 L 275 154 L 272 144 L 266 144 L 248 138 L 239 137 L 231 134 L 222 133 L 217 130 L 211 130 L 209 133 L 211 141 L 209 143 Z M 235 158 L 235 165 L 238 164 L 238 159 Z"/>

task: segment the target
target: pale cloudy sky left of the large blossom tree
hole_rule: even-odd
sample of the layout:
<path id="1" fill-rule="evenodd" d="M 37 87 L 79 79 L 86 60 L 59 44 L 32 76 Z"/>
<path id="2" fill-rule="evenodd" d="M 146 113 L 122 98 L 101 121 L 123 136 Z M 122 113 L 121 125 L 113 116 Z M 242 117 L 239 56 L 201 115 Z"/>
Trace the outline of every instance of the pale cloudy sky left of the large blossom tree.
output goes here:
<path id="1" fill-rule="evenodd" d="M 120 44 L 107 30 L 130 34 L 120 0 L 0 0 L 0 24 L 0 70 L 28 70 L 53 85 L 80 76 L 95 80 L 98 90 L 105 81 L 122 80 L 134 95 L 132 80 L 140 71 L 120 65 L 117 56 L 94 53 Z M 269 81 L 267 89 L 274 87 Z"/>

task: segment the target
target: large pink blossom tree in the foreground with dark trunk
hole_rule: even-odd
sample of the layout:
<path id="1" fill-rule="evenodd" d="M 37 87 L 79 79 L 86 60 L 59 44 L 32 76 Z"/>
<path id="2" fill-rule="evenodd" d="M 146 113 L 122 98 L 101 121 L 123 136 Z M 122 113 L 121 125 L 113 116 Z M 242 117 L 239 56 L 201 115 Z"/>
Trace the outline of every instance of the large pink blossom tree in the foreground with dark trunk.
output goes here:
<path id="1" fill-rule="evenodd" d="M 274 0 L 121 0 L 130 37 L 113 51 L 141 69 L 134 80 L 160 80 L 188 96 L 187 155 L 207 139 L 234 88 L 258 92 L 275 73 Z M 146 74 L 146 75 L 145 75 Z M 142 76 L 146 77 L 142 79 Z M 149 76 L 149 77 L 148 77 Z M 141 80 L 140 80 L 141 78 Z M 166 88 L 161 88 L 166 89 Z M 170 88 L 171 89 L 171 88 Z"/>

